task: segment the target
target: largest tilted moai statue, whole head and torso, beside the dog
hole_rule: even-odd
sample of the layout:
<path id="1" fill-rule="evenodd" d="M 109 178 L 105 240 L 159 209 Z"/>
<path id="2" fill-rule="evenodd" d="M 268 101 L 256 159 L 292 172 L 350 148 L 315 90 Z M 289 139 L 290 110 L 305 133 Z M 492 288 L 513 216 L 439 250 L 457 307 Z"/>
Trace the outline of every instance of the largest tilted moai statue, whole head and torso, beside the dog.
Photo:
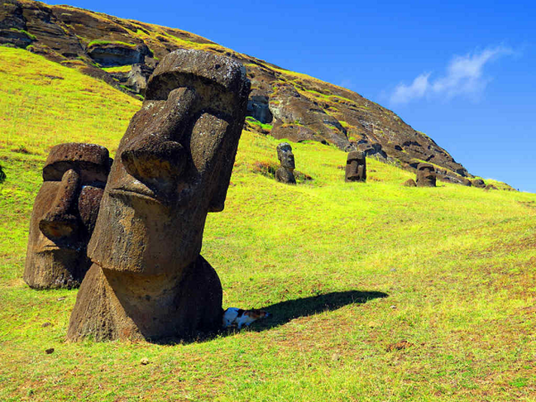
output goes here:
<path id="1" fill-rule="evenodd" d="M 111 167 L 68 340 L 221 327 L 221 283 L 199 252 L 207 212 L 224 209 L 249 91 L 233 59 L 182 49 L 162 59 Z"/>

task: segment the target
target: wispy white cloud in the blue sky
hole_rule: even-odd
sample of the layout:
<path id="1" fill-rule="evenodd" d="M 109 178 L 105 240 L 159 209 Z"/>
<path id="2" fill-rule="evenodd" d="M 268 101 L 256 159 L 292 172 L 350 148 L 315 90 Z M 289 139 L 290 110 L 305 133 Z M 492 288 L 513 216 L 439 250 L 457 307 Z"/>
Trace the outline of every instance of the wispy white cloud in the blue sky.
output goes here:
<path id="1" fill-rule="evenodd" d="M 483 76 L 484 65 L 494 59 L 513 54 L 509 47 L 497 46 L 480 53 L 455 56 L 446 68 L 446 75 L 430 80 L 431 73 L 422 73 L 411 85 L 400 83 L 391 94 L 391 103 L 407 103 L 423 96 L 452 98 L 457 95 L 475 96 L 485 90 L 490 78 Z"/>

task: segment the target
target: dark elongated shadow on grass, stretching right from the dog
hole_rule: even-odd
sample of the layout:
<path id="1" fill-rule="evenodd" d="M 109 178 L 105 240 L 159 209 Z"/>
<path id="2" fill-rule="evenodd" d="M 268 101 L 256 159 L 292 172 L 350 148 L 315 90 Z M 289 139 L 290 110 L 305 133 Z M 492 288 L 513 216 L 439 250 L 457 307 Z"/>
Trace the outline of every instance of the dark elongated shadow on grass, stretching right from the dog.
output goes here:
<path id="1" fill-rule="evenodd" d="M 307 317 L 322 311 L 337 310 L 347 304 L 363 304 L 369 300 L 387 296 L 388 294 L 383 292 L 346 291 L 271 304 L 261 308 L 261 310 L 269 312 L 271 316 L 251 324 L 250 331 L 265 331 L 286 324 L 293 318 Z"/>

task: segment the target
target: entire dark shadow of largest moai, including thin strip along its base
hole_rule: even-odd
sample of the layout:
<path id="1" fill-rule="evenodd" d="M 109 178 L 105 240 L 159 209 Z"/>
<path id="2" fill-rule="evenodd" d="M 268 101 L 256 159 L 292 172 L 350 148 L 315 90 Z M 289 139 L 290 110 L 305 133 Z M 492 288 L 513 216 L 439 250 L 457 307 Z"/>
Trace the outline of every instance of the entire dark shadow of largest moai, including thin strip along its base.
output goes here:
<path id="1" fill-rule="evenodd" d="M 271 316 L 269 318 L 260 319 L 259 321 L 252 323 L 250 327 L 243 327 L 242 330 L 247 328 L 247 331 L 266 331 L 273 327 L 286 324 L 293 318 L 307 317 L 323 311 L 337 310 L 338 308 L 346 306 L 347 304 L 363 304 L 369 300 L 387 296 L 388 294 L 383 292 L 346 291 L 303 297 L 295 300 L 287 300 L 261 308 L 261 310 L 269 312 Z M 188 339 L 167 337 L 147 341 L 159 345 L 190 344 L 196 342 L 209 342 L 218 336 L 232 336 L 237 332 L 240 331 L 235 327 L 232 327 L 215 333 L 197 333 L 194 337 Z"/>

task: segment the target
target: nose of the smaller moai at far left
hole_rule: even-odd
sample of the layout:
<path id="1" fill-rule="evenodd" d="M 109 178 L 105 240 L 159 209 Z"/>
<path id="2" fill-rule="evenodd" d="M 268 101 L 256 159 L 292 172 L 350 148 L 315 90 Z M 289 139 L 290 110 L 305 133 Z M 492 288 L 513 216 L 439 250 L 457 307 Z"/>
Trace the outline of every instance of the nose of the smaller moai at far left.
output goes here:
<path id="1" fill-rule="evenodd" d="M 73 169 L 67 170 L 59 184 L 54 203 L 39 222 L 39 229 L 50 240 L 62 240 L 77 234 L 80 221 L 73 211 L 76 209 L 79 190 L 80 175 Z"/>

